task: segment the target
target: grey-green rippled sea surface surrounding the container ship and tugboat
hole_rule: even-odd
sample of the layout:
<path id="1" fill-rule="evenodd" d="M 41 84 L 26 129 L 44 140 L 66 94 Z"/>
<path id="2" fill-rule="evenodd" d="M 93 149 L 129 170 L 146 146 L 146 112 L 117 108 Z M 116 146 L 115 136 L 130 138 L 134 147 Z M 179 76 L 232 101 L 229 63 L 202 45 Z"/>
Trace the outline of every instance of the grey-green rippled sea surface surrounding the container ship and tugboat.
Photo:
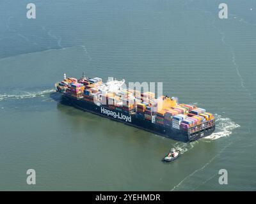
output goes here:
<path id="1" fill-rule="evenodd" d="M 1 191 L 256 190 L 256 1 L 225 1 L 227 19 L 222 1 L 35 0 L 35 19 L 28 3 L 0 2 Z M 163 82 L 216 131 L 182 143 L 61 105 L 54 83 L 83 71 Z"/>

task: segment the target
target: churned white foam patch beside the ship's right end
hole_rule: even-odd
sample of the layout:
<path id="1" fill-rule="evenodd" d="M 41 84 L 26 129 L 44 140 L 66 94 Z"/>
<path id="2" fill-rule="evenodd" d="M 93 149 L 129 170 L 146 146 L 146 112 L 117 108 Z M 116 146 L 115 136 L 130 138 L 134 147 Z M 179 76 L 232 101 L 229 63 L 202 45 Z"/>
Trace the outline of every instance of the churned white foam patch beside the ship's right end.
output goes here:
<path id="1" fill-rule="evenodd" d="M 221 115 L 215 114 L 215 132 L 205 137 L 205 139 L 217 140 L 219 138 L 229 136 L 232 134 L 232 130 L 239 128 L 239 124 L 236 124 L 229 118 L 223 118 Z"/>

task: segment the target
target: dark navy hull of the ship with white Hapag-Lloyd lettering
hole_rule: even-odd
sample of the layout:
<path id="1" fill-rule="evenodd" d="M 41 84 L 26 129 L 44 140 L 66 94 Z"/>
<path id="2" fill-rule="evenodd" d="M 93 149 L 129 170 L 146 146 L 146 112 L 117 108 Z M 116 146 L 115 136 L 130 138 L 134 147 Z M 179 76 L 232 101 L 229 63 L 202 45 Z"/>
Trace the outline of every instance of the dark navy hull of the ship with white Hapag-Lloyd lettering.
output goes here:
<path id="1" fill-rule="evenodd" d="M 188 131 L 181 131 L 179 129 L 172 128 L 171 126 L 161 126 L 159 124 L 152 123 L 149 120 L 141 119 L 136 114 L 126 113 L 119 110 L 111 110 L 107 106 L 96 105 L 95 103 L 84 101 L 84 99 L 74 98 L 67 94 L 62 94 L 62 103 L 65 105 L 74 106 L 86 112 L 91 112 L 108 119 L 122 122 L 135 128 L 149 131 L 156 135 L 161 135 L 166 138 L 172 138 L 181 142 L 191 142 L 209 136 L 214 132 L 215 125 L 211 128 L 198 131 L 193 134 L 189 134 Z"/>

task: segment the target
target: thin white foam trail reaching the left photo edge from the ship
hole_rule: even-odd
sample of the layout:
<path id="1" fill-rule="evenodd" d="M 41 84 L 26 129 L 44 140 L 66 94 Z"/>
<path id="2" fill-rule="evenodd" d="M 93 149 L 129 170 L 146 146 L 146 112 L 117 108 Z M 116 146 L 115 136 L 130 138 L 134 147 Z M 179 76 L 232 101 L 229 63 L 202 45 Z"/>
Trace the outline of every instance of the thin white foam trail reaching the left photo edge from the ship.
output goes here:
<path id="1" fill-rule="evenodd" d="M 0 101 L 6 100 L 6 99 L 24 99 L 24 98 L 44 97 L 45 94 L 49 94 L 51 92 L 54 92 L 54 89 L 47 89 L 39 92 L 25 92 L 26 94 L 20 94 L 20 95 L 0 94 Z"/>

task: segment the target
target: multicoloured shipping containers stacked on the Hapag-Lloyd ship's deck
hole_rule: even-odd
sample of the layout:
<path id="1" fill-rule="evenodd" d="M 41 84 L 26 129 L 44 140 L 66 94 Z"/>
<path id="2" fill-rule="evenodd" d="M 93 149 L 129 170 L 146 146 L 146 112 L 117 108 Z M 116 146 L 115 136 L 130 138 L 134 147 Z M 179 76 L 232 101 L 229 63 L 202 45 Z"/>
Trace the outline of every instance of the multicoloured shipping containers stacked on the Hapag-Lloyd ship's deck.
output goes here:
<path id="1" fill-rule="evenodd" d="M 100 103 L 112 110 L 127 113 L 136 112 L 140 119 L 145 119 L 161 126 L 171 126 L 175 129 L 188 130 L 207 120 L 213 119 L 212 113 L 203 108 L 184 103 L 177 104 L 175 98 L 161 96 L 155 98 L 153 92 L 141 93 L 135 90 L 120 89 L 120 91 L 102 91 L 101 78 L 67 78 L 59 83 L 66 87 L 72 96 L 82 96 L 85 101 L 93 102 L 97 98 Z M 156 120 L 155 120 L 156 119 Z"/>

